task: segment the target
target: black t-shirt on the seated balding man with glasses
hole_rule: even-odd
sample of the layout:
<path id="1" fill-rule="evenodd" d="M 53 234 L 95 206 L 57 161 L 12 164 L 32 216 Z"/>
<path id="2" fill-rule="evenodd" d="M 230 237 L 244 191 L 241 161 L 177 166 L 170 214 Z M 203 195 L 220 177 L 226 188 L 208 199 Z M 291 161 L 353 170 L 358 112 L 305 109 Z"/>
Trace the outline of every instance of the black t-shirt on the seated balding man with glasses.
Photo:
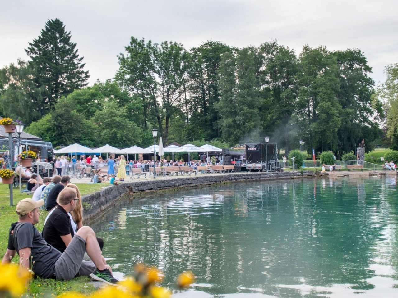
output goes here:
<path id="1" fill-rule="evenodd" d="M 60 236 L 68 234 L 72 237 L 74 236 L 74 231 L 70 224 L 70 217 L 64 208 L 57 206 L 44 225 L 43 238 L 48 244 L 51 244 L 60 252 L 64 252 L 66 246 Z"/>

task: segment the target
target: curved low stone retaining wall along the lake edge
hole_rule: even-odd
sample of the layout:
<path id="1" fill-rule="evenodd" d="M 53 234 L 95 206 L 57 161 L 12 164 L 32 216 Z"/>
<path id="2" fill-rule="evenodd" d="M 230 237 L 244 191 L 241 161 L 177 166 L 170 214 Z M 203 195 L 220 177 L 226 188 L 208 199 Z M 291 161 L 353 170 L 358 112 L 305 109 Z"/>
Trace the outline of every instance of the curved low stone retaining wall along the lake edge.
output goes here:
<path id="1" fill-rule="evenodd" d="M 293 179 L 302 177 L 315 177 L 314 172 L 243 172 L 231 174 L 198 174 L 197 176 L 168 177 L 167 179 L 140 178 L 125 182 L 118 186 L 108 186 L 98 192 L 84 195 L 83 202 L 91 205 L 90 210 L 84 211 L 87 221 L 100 215 L 109 206 L 117 203 L 119 199 L 139 192 L 154 192 L 170 188 L 193 187 L 215 183 L 244 181 L 244 180 L 275 180 Z"/>

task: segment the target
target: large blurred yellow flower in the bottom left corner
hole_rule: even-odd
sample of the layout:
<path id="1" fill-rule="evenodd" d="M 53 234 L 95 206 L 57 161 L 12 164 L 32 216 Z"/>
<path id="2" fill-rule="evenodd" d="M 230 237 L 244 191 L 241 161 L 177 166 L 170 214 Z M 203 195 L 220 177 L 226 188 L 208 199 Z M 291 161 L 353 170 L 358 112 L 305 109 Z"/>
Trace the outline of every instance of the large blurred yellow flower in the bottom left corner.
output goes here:
<path id="1" fill-rule="evenodd" d="M 9 292 L 12 297 L 19 297 L 25 292 L 29 279 L 29 272 L 20 269 L 18 265 L 0 265 L 0 292 Z"/>

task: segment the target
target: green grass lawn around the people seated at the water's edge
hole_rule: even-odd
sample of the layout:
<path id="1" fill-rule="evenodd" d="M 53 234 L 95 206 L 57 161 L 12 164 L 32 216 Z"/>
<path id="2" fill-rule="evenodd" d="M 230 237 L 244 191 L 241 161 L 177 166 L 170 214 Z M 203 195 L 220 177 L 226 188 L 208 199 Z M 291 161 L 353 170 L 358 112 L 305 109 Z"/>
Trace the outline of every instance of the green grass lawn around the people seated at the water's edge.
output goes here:
<path id="1" fill-rule="evenodd" d="M 76 184 L 81 194 L 90 194 L 103 188 L 101 184 Z M 3 259 L 6 253 L 8 243 L 8 230 L 10 224 L 18 221 L 18 216 L 15 213 L 16 204 L 25 197 L 32 197 L 28 194 L 20 194 L 19 189 L 14 189 L 14 206 L 10 206 L 10 190 L 8 184 L 0 184 L 0 255 Z M 40 211 L 40 221 L 36 224 L 39 232 L 43 229 L 44 219 L 47 216 L 47 211 Z M 18 254 L 14 257 L 13 262 L 18 263 Z M 34 279 L 28 289 L 28 297 L 41 297 L 43 293 L 54 295 L 62 292 L 74 290 L 84 294 L 94 292 L 94 287 L 88 284 L 88 277 L 78 277 L 72 281 L 55 281 L 54 279 Z M 1 296 L 1 295 L 0 295 Z"/>

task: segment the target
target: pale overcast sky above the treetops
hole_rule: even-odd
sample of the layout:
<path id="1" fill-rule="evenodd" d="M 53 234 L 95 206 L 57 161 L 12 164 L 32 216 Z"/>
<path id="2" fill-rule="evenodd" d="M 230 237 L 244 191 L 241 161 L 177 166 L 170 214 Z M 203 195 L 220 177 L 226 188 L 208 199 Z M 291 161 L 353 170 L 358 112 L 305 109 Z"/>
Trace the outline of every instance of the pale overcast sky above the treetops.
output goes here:
<path id="1" fill-rule="evenodd" d="M 90 85 L 114 77 L 131 36 L 187 49 L 207 40 L 242 48 L 275 39 L 296 54 L 305 44 L 358 48 L 377 83 L 398 62 L 397 14 L 394 0 L 9 0 L 0 11 L 0 67 L 27 60 L 28 43 L 58 17 L 84 56 Z"/>

